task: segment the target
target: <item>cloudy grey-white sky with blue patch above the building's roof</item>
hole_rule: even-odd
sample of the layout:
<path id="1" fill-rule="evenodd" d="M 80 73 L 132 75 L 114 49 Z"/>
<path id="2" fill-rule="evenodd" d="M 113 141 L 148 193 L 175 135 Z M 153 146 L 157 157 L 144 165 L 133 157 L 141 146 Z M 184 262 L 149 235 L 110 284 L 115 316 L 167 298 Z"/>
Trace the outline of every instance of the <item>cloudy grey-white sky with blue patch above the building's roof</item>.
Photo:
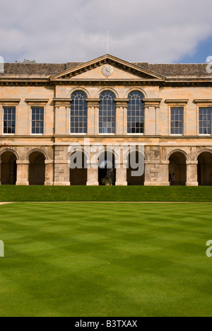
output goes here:
<path id="1" fill-rule="evenodd" d="M 109 53 L 129 62 L 206 62 L 211 0 L 0 0 L 5 62 L 86 62 Z"/>

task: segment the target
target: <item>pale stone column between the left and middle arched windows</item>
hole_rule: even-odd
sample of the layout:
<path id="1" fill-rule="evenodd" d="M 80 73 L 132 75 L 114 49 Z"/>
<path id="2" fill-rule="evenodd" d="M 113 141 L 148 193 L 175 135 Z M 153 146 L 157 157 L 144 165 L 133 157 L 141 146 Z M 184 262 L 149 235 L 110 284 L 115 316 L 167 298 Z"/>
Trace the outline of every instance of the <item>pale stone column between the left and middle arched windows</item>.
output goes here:
<path id="1" fill-rule="evenodd" d="M 88 134 L 97 135 L 99 127 L 99 103 L 101 99 L 86 99 L 88 104 Z"/>

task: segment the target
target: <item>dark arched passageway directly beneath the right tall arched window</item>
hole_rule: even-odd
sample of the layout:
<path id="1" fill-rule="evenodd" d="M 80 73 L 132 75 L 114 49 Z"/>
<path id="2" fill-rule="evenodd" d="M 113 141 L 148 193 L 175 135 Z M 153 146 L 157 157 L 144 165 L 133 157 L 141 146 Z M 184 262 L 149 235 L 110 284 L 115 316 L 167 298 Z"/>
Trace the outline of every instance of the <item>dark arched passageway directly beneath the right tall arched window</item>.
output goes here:
<path id="1" fill-rule="evenodd" d="M 138 166 L 136 167 L 136 165 Z M 126 170 L 127 185 L 144 185 L 145 173 L 143 170 L 144 156 L 139 151 L 129 153 Z"/>

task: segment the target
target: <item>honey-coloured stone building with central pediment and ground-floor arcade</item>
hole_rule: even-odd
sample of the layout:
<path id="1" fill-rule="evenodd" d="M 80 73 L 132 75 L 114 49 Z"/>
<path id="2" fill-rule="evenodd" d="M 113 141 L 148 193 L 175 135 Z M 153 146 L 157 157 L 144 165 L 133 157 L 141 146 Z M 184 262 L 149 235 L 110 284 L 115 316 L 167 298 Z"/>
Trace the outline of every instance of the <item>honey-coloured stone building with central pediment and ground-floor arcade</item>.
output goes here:
<path id="1" fill-rule="evenodd" d="M 212 74 L 207 64 L 4 64 L 0 73 L 1 185 L 212 185 Z M 132 144 L 99 158 L 82 147 Z M 75 146 L 70 151 L 69 146 Z M 143 175 L 129 159 L 144 146 Z M 69 168 L 83 154 L 81 169 Z M 105 163 L 104 163 L 105 161 Z M 117 166 L 118 165 L 118 166 Z M 117 167 L 117 168 L 116 168 Z M 173 179 L 173 178 L 172 178 Z"/>

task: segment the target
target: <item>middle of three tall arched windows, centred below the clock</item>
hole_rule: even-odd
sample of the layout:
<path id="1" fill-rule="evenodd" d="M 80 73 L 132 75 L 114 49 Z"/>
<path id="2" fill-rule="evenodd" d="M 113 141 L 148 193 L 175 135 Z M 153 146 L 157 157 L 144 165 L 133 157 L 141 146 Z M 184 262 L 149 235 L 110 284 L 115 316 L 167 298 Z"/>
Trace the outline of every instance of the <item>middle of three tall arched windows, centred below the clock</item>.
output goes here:
<path id="1" fill-rule="evenodd" d="M 100 94 L 99 110 L 99 133 L 114 134 L 116 133 L 116 104 L 115 95 L 110 91 L 104 91 Z"/>

